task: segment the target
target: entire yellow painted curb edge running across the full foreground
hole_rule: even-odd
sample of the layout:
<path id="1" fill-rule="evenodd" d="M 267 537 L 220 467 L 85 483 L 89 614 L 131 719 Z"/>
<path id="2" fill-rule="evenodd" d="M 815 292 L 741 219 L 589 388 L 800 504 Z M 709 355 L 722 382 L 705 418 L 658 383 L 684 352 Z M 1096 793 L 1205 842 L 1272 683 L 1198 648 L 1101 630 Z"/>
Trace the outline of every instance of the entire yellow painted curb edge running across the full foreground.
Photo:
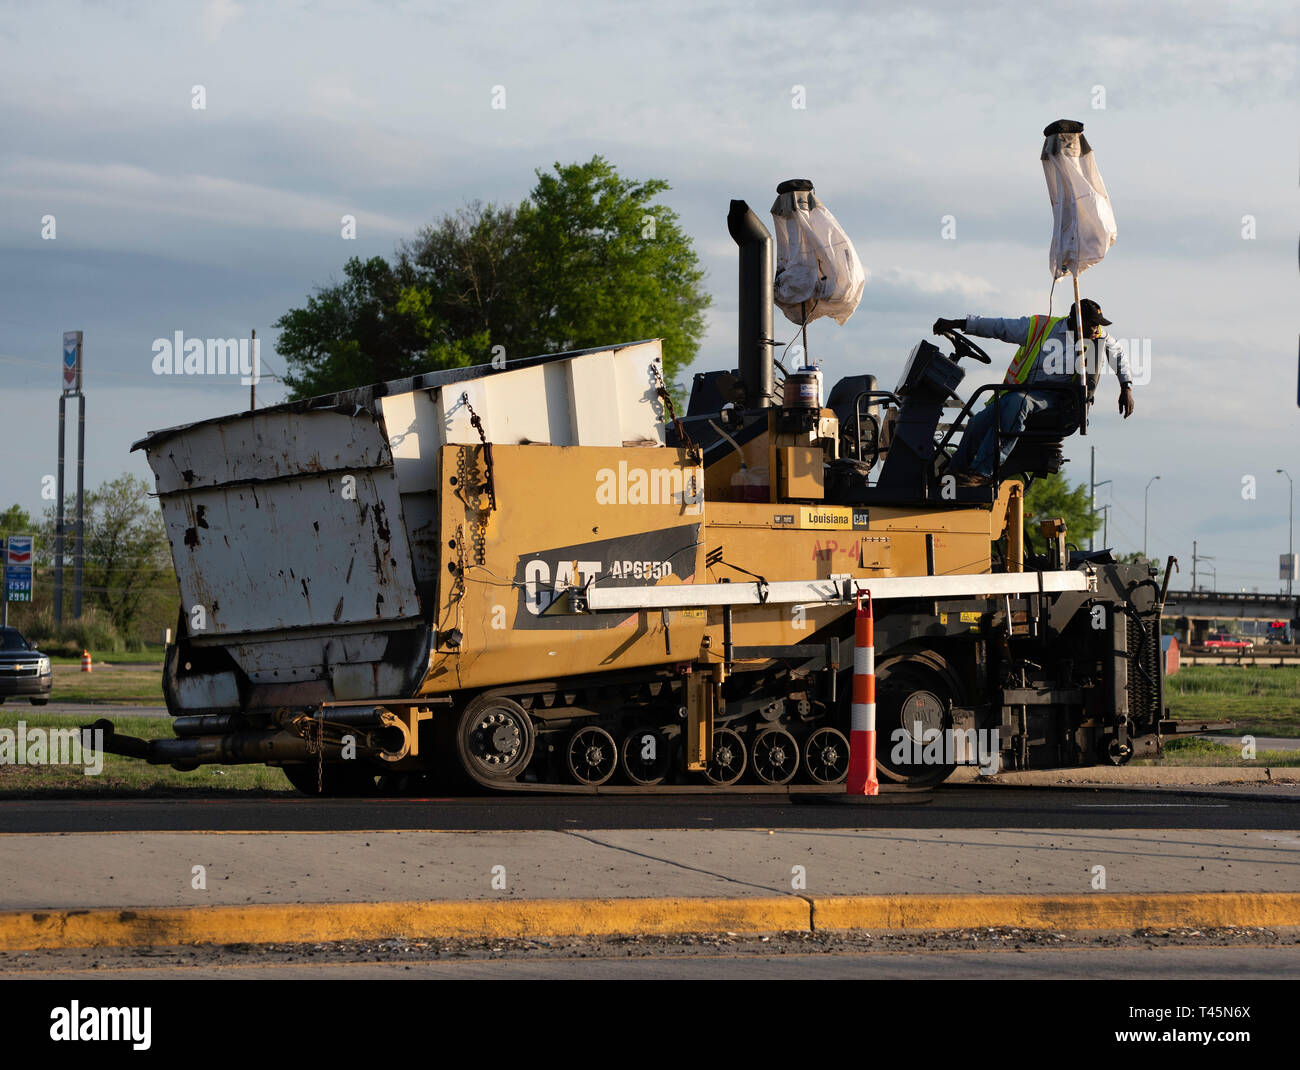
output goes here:
<path id="1" fill-rule="evenodd" d="M 810 906 L 811 902 L 811 906 Z M 811 917 L 810 917 L 811 915 Z M 797 896 L 0 911 L 0 950 L 824 930 L 1300 927 L 1300 894 Z"/>

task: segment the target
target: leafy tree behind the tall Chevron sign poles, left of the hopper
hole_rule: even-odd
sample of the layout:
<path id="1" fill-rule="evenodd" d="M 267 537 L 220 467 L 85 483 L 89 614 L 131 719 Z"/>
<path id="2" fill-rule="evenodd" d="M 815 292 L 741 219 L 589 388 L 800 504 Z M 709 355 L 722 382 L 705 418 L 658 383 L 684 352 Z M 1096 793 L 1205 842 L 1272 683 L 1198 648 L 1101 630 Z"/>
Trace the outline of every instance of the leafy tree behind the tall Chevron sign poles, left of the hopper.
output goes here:
<path id="1" fill-rule="evenodd" d="M 75 549 L 77 498 L 64 504 L 64 586 L 70 598 Z M 176 579 L 162 514 L 150 503 L 143 480 L 122 473 L 86 491 L 86 551 L 82 564 L 83 605 L 98 606 L 124 634 L 133 629 L 151 601 L 166 593 L 173 605 Z M 55 545 L 55 508 L 46 508 L 40 540 Z M 65 619 L 68 614 L 65 611 Z"/>

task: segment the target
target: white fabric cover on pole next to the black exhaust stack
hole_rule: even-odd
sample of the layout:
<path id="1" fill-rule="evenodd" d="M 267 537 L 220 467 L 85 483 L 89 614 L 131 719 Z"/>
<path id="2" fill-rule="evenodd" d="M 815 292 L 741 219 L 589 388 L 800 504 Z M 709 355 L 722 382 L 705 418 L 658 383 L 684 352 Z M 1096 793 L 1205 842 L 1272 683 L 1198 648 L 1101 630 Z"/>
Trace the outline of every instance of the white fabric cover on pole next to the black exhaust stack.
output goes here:
<path id="1" fill-rule="evenodd" d="M 867 285 L 858 252 L 835 216 L 816 199 L 811 182 L 797 178 L 776 189 L 774 300 L 792 322 L 831 316 L 842 325 Z"/>

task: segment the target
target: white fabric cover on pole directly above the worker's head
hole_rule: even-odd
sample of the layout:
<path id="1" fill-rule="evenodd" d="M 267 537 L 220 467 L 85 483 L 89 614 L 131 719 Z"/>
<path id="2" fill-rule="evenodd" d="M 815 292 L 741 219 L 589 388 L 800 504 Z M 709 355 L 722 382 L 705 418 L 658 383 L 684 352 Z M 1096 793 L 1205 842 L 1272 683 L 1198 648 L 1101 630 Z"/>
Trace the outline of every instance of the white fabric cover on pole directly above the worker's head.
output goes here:
<path id="1" fill-rule="evenodd" d="M 1080 274 L 1115 243 L 1115 216 L 1083 124 L 1060 120 L 1043 131 L 1043 172 L 1052 198 L 1052 278 Z"/>

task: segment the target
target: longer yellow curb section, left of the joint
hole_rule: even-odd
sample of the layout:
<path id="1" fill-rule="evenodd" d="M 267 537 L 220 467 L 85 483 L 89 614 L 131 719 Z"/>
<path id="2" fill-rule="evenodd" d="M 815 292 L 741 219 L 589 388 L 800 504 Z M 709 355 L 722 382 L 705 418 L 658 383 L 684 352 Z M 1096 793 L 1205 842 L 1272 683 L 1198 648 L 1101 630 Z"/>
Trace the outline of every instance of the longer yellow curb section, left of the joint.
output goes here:
<path id="1" fill-rule="evenodd" d="M 9 910 L 0 913 L 0 950 L 807 928 L 807 901 L 796 896 Z"/>

